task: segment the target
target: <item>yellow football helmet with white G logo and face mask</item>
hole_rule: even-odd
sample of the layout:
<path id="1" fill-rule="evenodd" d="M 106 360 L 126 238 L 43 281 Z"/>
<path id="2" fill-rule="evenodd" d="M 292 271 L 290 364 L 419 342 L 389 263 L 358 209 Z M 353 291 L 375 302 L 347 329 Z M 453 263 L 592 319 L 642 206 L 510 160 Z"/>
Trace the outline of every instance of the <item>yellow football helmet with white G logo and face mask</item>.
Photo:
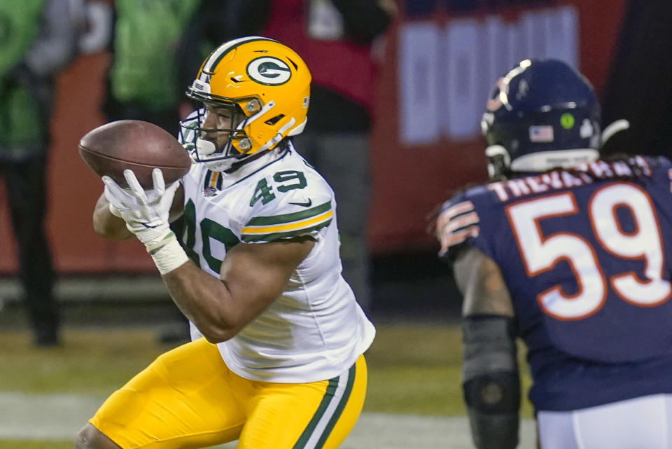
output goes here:
<path id="1" fill-rule="evenodd" d="M 196 162 L 208 163 L 216 171 L 275 148 L 285 137 L 303 131 L 310 81 L 301 57 L 278 41 L 248 36 L 223 43 L 203 62 L 186 92 L 205 106 L 196 113 L 197 119 L 181 122 L 186 148 Z M 229 110 L 228 127 L 213 127 L 214 120 L 207 120 L 215 109 Z M 218 148 L 208 136 L 221 132 L 228 133 L 228 139 Z"/>

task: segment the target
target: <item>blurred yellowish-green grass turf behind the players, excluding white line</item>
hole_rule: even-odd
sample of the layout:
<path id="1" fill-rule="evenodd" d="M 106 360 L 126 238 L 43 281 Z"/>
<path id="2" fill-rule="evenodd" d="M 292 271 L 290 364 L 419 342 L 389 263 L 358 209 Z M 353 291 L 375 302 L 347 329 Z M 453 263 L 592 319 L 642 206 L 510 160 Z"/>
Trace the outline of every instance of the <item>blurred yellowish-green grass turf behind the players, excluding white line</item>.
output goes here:
<path id="1" fill-rule="evenodd" d="M 64 345 L 41 350 L 27 332 L 0 332 L 0 391 L 73 393 L 104 398 L 169 349 L 154 330 L 67 330 Z M 365 412 L 463 415 L 458 329 L 412 322 L 377 324 L 366 354 L 369 386 Z M 524 381 L 524 391 L 528 380 Z M 531 415 L 528 402 L 524 415 Z M 1 420 L 1 417 L 0 417 Z M 2 449 L 71 449 L 71 441 L 0 440 Z"/>

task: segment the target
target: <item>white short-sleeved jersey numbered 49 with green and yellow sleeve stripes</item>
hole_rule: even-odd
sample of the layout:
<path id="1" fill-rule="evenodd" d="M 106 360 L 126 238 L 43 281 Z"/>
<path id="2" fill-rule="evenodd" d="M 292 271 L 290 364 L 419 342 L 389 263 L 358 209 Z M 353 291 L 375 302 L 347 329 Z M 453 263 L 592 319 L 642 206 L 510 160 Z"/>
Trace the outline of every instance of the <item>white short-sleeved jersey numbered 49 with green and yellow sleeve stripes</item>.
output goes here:
<path id="1" fill-rule="evenodd" d="M 235 244 L 310 235 L 315 245 L 286 289 L 218 347 L 227 366 L 251 380 L 333 378 L 372 343 L 374 326 L 341 276 L 336 202 L 326 181 L 291 145 L 266 151 L 233 174 L 195 163 L 183 178 L 187 254 L 219 277 Z M 200 336 L 192 324 L 192 335 Z"/>

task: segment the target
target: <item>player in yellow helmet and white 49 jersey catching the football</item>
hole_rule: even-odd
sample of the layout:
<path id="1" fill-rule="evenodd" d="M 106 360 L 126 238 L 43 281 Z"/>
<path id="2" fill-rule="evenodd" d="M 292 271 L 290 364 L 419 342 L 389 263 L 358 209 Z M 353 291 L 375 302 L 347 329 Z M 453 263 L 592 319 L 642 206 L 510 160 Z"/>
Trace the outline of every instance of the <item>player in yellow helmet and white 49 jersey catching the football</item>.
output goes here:
<path id="1" fill-rule="evenodd" d="M 146 245 L 193 341 L 114 392 L 78 449 L 326 449 L 351 431 L 375 331 L 340 274 L 333 192 L 290 139 L 310 80 L 279 42 L 224 43 L 187 92 L 203 106 L 182 123 L 190 172 L 155 170 L 150 191 L 104 177 L 94 228 Z"/>

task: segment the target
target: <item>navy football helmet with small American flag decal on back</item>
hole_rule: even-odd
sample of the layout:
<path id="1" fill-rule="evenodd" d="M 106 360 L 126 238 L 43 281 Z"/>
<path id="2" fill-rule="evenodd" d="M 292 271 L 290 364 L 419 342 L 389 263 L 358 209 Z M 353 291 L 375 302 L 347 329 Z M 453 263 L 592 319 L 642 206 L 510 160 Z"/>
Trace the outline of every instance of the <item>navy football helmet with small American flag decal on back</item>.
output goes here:
<path id="1" fill-rule="evenodd" d="M 524 60 L 496 82 L 483 114 L 491 179 L 596 160 L 600 106 L 589 81 L 559 60 Z"/>

